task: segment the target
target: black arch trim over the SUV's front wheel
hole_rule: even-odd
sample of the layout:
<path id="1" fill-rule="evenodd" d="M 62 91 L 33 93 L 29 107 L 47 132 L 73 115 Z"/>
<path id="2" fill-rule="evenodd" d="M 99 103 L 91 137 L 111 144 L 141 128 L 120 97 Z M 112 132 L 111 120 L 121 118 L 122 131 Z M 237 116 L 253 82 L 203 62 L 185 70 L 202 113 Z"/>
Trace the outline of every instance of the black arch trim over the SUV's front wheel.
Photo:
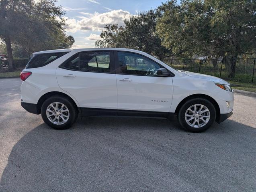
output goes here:
<path id="1" fill-rule="evenodd" d="M 220 109 L 219 109 L 219 105 L 217 103 L 217 101 L 215 101 L 215 99 L 213 99 L 212 97 L 210 97 L 209 95 L 205 95 L 205 94 L 194 94 L 194 95 L 189 95 L 188 97 L 185 97 L 182 101 L 180 101 L 180 103 L 178 104 L 178 106 L 175 109 L 175 113 L 178 114 L 178 111 L 180 110 L 181 106 L 186 103 L 186 101 L 190 100 L 190 99 L 195 99 L 195 98 L 204 98 L 209 100 L 213 106 L 215 107 L 216 110 L 216 121 L 219 120 L 220 117 Z"/>

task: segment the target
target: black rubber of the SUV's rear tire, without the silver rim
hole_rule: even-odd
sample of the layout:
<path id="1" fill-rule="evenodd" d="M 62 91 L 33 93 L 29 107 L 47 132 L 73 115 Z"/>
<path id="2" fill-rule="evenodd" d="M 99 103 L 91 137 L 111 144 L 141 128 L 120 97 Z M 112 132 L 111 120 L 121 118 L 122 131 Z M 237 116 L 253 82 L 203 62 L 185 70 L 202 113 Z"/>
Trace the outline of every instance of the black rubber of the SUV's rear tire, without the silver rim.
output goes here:
<path id="1" fill-rule="evenodd" d="M 68 110 L 70 112 L 70 117 L 68 121 L 62 125 L 53 124 L 47 118 L 46 109 L 51 103 L 54 102 L 63 103 L 64 105 L 66 105 L 66 107 L 68 107 Z M 41 107 L 41 116 L 43 118 L 43 121 L 45 121 L 45 123 L 53 129 L 68 129 L 76 121 L 77 115 L 78 113 L 76 108 L 74 107 L 74 104 L 69 99 L 63 98 L 61 96 L 53 96 L 49 99 L 46 99 Z"/>

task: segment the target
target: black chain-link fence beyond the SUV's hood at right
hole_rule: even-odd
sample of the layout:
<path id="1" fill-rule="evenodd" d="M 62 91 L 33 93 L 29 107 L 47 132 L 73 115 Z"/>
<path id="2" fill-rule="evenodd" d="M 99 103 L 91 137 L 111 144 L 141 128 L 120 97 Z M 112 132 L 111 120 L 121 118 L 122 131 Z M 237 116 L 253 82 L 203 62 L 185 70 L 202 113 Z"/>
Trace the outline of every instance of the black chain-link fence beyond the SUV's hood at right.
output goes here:
<path id="1" fill-rule="evenodd" d="M 220 77 L 221 79 L 243 83 L 255 83 L 255 60 L 236 59 L 236 69 L 233 77 L 229 77 L 229 59 L 165 59 L 165 63 L 174 69 L 203 73 Z"/>

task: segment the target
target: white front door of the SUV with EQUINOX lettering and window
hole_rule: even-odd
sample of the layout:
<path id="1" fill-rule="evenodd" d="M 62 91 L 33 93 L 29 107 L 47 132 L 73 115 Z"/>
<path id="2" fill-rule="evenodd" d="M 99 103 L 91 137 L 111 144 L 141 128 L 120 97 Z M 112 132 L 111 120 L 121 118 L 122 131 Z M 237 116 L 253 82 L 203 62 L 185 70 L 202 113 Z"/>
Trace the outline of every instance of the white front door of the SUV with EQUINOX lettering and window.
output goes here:
<path id="1" fill-rule="evenodd" d="M 166 113 L 170 111 L 173 93 L 172 77 L 157 75 L 157 70 L 162 68 L 160 64 L 143 55 L 122 51 L 115 52 L 115 63 L 118 68 L 116 76 L 118 115 L 129 115 L 129 112 L 133 111 Z M 143 113 L 136 116 L 143 116 Z"/>

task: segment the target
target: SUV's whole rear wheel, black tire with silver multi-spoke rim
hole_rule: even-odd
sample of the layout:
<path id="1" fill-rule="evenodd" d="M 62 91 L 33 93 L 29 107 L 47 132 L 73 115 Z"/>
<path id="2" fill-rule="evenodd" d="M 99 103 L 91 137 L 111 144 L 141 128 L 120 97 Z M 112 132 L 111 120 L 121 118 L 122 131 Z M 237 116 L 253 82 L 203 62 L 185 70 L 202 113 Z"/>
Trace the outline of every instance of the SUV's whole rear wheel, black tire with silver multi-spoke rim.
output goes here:
<path id="1" fill-rule="evenodd" d="M 53 96 L 43 102 L 41 116 L 53 129 L 68 129 L 76 121 L 78 110 L 70 99 Z"/>

